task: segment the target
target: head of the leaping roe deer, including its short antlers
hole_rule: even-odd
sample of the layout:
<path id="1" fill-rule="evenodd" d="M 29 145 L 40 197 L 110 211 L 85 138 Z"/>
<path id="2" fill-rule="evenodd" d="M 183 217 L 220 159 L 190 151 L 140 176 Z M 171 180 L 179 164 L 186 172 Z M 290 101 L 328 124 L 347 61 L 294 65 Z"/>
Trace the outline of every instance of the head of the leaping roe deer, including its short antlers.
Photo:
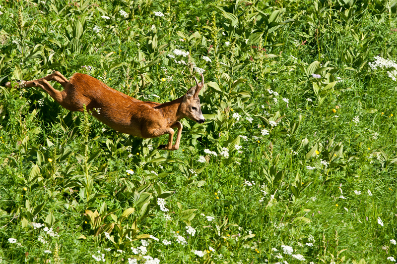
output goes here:
<path id="1" fill-rule="evenodd" d="M 201 83 L 197 82 L 196 76 L 196 86 L 193 86 L 186 92 L 186 95 L 183 98 L 183 102 L 180 106 L 180 111 L 189 119 L 196 121 L 200 124 L 204 123 L 205 118 L 202 115 L 201 107 L 200 107 L 200 99 L 199 99 L 199 92 L 201 88 L 204 86 L 204 76 L 202 73 L 201 75 Z"/>

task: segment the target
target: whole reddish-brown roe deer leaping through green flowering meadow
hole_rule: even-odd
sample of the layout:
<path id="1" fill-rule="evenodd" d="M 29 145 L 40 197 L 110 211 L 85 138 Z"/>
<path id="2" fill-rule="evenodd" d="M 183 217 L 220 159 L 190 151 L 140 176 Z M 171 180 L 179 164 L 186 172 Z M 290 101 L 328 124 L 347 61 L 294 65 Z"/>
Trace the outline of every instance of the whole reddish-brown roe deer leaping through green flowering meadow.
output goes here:
<path id="1" fill-rule="evenodd" d="M 204 76 L 200 75 L 201 82 L 198 83 L 195 76 L 196 86 L 184 96 L 164 104 L 139 101 L 82 73 L 75 73 L 67 80 L 60 72 L 54 71 L 41 79 L 21 81 L 14 88 L 40 87 L 70 111 L 82 112 L 85 105 L 104 124 L 135 137 L 154 138 L 169 134 L 168 144 L 160 145 L 158 149 L 173 151 L 179 149 L 181 141 L 182 124 L 179 120 L 188 117 L 200 124 L 205 121 L 199 99 Z M 59 82 L 64 90 L 55 90 L 49 81 Z M 5 83 L 5 87 L 11 87 L 11 83 Z M 173 128 L 178 129 L 175 145 L 172 145 Z"/>

